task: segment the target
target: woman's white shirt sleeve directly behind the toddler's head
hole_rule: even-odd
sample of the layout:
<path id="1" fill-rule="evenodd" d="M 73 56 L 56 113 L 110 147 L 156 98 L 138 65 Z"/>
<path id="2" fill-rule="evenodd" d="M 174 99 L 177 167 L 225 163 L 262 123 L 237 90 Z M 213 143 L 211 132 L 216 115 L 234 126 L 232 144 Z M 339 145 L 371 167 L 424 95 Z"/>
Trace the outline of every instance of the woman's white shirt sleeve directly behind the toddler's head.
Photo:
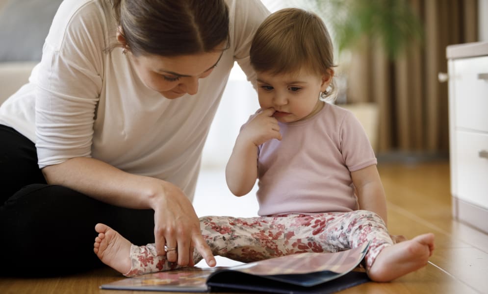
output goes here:
<path id="1" fill-rule="evenodd" d="M 257 89 L 256 73 L 251 66 L 249 50 L 257 28 L 270 14 L 268 9 L 259 0 L 236 0 L 229 7 L 230 15 L 233 16 L 234 59 L 246 74 L 247 80 Z"/>

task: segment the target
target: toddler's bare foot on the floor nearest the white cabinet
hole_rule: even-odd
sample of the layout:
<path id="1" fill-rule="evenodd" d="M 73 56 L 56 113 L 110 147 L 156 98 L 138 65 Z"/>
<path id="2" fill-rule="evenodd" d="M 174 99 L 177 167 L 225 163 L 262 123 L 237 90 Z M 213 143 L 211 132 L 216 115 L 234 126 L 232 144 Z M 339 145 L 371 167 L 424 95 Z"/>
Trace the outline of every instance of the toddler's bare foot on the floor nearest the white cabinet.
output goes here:
<path id="1" fill-rule="evenodd" d="M 376 257 L 368 276 L 375 282 L 389 282 L 425 265 L 434 250 L 434 234 L 385 247 Z"/>

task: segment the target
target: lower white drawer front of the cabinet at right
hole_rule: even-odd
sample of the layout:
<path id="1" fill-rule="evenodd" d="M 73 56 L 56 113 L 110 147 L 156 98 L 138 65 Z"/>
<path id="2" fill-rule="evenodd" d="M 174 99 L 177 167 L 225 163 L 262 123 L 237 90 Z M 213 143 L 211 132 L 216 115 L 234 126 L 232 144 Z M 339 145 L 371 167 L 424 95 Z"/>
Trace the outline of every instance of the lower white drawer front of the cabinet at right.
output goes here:
<path id="1" fill-rule="evenodd" d="M 488 208 L 488 134 L 456 131 L 456 136 L 456 196 Z"/>

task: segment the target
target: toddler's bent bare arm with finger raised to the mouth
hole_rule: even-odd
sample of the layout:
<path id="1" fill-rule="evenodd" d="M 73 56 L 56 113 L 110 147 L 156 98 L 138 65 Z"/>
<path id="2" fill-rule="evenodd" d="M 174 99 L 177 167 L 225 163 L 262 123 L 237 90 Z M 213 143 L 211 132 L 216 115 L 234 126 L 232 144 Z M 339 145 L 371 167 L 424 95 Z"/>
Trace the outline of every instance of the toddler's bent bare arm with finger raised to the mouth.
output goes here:
<path id="1" fill-rule="evenodd" d="M 275 110 L 265 109 L 242 127 L 226 167 L 227 186 L 235 196 L 249 193 L 257 178 L 257 147 L 270 139 L 281 140 Z"/>

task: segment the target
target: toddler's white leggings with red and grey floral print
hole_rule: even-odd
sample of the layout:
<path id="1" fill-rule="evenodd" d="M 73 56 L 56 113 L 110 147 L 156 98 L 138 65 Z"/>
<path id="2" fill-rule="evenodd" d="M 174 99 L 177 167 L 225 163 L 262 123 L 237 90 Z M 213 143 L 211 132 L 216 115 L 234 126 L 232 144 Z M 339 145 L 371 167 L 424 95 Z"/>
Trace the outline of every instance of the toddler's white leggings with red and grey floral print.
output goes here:
<path id="1" fill-rule="evenodd" d="M 214 255 L 252 262 L 302 252 L 338 252 L 371 241 L 365 256 L 369 270 L 378 253 L 393 245 L 385 223 L 366 210 L 316 215 L 275 215 L 255 218 L 203 217 L 200 228 Z M 157 255 L 154 244 L 131 245 L 132 268 L 125 276 L 178 268 Z M 195 263 L 202 256 L 195 250 Z"/>

